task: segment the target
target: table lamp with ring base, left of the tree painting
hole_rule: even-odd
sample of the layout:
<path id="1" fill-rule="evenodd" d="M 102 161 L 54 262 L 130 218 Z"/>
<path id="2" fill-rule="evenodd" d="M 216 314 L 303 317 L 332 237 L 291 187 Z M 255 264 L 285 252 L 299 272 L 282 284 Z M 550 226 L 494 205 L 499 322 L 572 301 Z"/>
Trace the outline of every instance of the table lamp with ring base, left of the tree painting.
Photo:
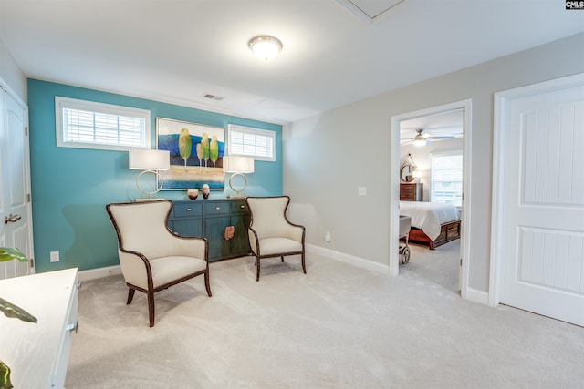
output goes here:
<path id="1" fill-rule="evenodd" d="M 132 170 L 142 170 L 136 177 L 136 188 L 152 199 L 152 195 L 158 193 L 164 181 L 160 171 L 170 169 L 169 152 L 164 150 L 152 150 L 150 148 L 130 148 L 128 152 L 128 167 Z M 156 177 L 154 180 L 154 190 L 144 190 L 140 185 L 142 174 L 152 173 Z M 140 199 L 137 199 L 140 200 Z"/>

